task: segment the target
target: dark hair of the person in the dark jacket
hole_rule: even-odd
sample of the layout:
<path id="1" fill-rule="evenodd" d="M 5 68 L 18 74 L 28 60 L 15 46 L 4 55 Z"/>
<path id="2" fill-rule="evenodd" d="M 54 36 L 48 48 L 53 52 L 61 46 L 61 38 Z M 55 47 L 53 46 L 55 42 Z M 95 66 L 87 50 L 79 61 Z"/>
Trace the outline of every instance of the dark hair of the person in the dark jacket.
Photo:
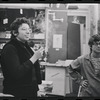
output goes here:
<path id="1" fill-rule="evenodd" d="M 21 18 L 16 18 L 10 25 L 10 29 L 11 29 L 11 38 L 14 38 L 16 36 L 13 35 L 13 32 L 18 33 L 18 28 L 20 25 L 22 25 L 23 23 L 27 23 L 30 28 L 31 28 L 31 22 L 29 19 L 25 18 L 25 17 L 21 17 Z"/>

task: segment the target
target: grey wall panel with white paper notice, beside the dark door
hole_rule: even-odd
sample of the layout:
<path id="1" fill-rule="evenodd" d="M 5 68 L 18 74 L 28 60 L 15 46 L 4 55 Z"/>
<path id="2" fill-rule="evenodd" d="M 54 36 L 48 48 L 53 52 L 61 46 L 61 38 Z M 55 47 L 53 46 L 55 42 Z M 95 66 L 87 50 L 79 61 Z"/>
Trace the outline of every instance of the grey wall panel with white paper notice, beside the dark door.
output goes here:
<path id="1" fill-rule="evenodd" d="M 58 59 L 66 60 L 67 56 L 67 13 L 65 12 L 66 8 L 63 4 L 61 4 L 60 7 L 57 8 L 56 5 L 53 5 L 53 7 L 50 8 L 47 12 L 48 13 L 47 45 L 48 45 L 48 61 L 50 63 L 55 63 L 56 61 L 58 61 Z M 54 39 L 53 39 L 54 35 L 62 37 L 61 48 L 59 47 L 57 48 L 54 46 Z"/>

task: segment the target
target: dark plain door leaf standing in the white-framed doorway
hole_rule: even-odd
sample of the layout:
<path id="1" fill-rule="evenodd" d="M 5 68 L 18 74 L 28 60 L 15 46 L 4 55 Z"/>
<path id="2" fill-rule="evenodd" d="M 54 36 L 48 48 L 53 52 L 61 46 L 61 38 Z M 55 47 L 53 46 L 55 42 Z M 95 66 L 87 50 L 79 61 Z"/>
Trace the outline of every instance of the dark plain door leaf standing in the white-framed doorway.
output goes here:
<path id="1" fill-rule="evenodd" d="M 67 59 L 76 59 L 80 50 L 80 24 L 68 23 L 67 31 Z"/>

